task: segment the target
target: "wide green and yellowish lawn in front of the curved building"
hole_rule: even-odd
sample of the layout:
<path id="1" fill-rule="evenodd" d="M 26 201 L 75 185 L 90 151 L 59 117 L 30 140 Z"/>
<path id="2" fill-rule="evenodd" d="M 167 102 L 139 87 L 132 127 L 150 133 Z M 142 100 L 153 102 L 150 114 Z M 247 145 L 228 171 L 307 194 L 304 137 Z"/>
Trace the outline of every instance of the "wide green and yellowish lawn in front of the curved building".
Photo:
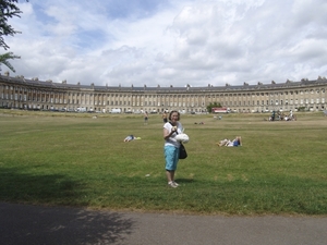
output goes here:
<path id="1" fill-rule="evenodd" d="M 204 215 L 327 215 L 327 118 L 182 115 L 190 143 L 178 188 L 165 176 L 158 114 L 0 110 L 0 200 Z M 204 124 L 195 124 L 204 122 Z M 134 134 L 141 140 L 123 143 Z M 242 136 L 242 147 L 218 147 Z"/>

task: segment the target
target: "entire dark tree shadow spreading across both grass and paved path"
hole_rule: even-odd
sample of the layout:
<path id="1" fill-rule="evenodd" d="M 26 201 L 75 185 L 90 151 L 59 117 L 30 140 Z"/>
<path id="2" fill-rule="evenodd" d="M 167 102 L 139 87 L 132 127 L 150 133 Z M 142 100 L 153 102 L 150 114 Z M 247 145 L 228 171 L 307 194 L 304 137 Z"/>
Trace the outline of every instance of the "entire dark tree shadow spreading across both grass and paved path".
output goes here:
<path id="1" fill-rule="evenodd" d="M 66 175 L 23 171 L 0 168 L 0 200 L 21 203 L 0 203 L 0 244 L 113 244 L 132 233 L 134 221 L 123 215 L 53 207 L 78 204 L 83 184 Z"/>

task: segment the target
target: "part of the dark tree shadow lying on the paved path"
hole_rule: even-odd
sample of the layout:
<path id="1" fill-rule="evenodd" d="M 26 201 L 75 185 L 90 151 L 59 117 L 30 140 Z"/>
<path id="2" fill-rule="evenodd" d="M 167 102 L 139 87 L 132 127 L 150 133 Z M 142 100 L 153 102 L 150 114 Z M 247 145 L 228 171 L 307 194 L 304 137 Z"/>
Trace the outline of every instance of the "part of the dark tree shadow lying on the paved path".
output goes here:
<path id="1" fill-rule="evenodd" d="M 0 203 L 0 242 L 20 244 L 122 244 L 135 221 L 77 208 Z"/>

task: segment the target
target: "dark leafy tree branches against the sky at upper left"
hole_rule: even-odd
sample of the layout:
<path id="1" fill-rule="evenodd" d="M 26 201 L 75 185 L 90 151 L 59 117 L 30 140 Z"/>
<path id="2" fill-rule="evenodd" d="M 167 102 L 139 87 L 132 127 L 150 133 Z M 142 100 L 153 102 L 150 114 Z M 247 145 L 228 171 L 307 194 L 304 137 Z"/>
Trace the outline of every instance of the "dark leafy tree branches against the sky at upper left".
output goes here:
<path id="1" fill-rule="evenodd" d="M 10 47 L 4 41 L 4 36 L 14 36 L 20 33 L 15 30 L 11 25 L 8 24 L 11 17 L 21 17 L 22 11 L 16 5 L 19 0 L 0 0 L 0 46 L 8 50 Z M 26 0 L 28 2 L 28 0 Z M 5 52 L 0 54 L 0 65 L 7 65 L 11 71 L 15 72 L 14 68 L 10 64 L 9 60 L 20 59 L 21 57 L 15 56 L 13 52 Z"/>

